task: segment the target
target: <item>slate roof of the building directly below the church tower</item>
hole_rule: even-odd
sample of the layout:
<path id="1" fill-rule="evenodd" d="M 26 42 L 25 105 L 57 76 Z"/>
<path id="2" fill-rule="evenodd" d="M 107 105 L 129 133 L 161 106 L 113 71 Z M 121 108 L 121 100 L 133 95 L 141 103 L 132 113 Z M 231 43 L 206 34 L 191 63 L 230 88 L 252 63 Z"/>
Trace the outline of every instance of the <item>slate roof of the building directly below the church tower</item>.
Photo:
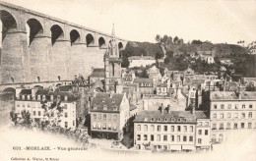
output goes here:
<path id="1" fill-rule="evenodd" d="M 96 93 L 96 97 L 93 100 L 91 111 L 94 112 L 113 112 L 114 107 L 117 108 L 116 112 L 120 112 L 120 104 L 123 100 L 124 94 L 112 93 L 110 98 L 110 93 Z M 106 106 L 107 110 L 103 110 L 103 107 Z M 96 107 L 96 109 L 94 108 Z"/>

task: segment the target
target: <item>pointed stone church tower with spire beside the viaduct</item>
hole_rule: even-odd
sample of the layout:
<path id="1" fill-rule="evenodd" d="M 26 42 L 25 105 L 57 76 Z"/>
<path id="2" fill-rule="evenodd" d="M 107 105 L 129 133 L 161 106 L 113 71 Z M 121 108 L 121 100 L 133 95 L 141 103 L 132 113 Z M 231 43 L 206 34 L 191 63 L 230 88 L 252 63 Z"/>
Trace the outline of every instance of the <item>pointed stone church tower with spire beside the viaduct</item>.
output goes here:
<path id="1" fill-rule="evenodd" d="M 115 39 L 114 25 L 108 48 L 104 55 L 105 90 L 116 92 L 116 85 L 121 83 L 121 63 L 119 49 Z"/>

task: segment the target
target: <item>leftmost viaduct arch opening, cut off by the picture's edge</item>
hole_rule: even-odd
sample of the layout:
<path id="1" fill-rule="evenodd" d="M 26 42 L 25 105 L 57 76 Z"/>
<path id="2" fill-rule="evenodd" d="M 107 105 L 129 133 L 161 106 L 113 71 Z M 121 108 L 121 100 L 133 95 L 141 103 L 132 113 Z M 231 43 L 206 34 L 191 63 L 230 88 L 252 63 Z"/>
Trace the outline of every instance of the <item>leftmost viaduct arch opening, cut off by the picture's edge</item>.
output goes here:
<path id="1" fill-rule="evenodd" d="M 17 28 L 17 23 L 12 14 L 5 10 L 0 10 L 0 30 L 1 30 L 1 41 L 0 41 L 0 47 L 2 48 L 2 43 L 10 29 Z"/>

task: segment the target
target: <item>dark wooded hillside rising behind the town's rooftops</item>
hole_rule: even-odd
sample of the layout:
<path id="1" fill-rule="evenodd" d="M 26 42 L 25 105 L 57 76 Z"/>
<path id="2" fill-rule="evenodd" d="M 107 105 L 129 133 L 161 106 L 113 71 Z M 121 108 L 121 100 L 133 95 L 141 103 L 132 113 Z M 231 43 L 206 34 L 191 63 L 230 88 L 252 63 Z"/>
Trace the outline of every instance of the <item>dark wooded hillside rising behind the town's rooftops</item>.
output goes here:
<path id="1" fill-rule="evenodd" d="M 152 56 L 160 59 L 164 58 L 164 63 L 160 67 L 169 70 L 185 70 L 188 66 L 197 73 L 208 71 L 218 72 L 221 64 L 220 59 L 228 58 L 233 63 L 232 66 L 226 66 L 227 70 L 235 70 L 235 73 L 244 77 L 256 77 L 256 56 L 249 55 L 247 48 L 234 44 L 219 43 L 214 44 L 211 41 L 192 40 L 184 43 L 178 36 L 160 35 L 156 36 L 157 43 L 150 42 L 128 42 L 126 48 L 121 51 L 122 67 L 128 67 L 130 56 Z M 191 53 L 197 51 L 214 51 L 215 64 L 209 65 L 201 60 L 190 57 Z"/>

